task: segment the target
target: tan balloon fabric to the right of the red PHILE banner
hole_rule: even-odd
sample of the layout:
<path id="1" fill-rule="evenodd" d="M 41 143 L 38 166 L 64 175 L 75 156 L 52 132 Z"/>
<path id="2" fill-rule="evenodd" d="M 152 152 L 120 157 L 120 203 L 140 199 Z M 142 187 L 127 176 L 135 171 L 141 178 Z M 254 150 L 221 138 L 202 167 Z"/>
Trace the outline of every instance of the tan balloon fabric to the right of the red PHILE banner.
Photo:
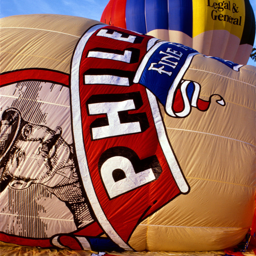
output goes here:
<path id="1" fill-rule="evenodd" d="M 255 68 L 244 66 L 236 72 L 197 55 L 184 79 L 201 84 L 205 100 L 212 92 L 220 94 L 226 106 L 216 104 L 214 96 L 208 111 L 194 108 L 186 118 L 171 118 L 162 107 L 170 143 L 191 191 L 137 227 L 130 243 L 140 249 L 227 248 L 243 239 L 252 222 Z"/>

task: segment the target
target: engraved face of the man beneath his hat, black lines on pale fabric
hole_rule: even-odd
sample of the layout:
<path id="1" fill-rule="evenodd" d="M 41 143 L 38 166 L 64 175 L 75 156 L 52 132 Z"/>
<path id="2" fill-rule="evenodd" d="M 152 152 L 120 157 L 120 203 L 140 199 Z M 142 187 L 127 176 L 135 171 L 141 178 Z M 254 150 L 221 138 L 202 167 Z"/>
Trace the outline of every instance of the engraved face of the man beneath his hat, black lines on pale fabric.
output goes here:
<path id="1" fill-rule="evenodd" d="M 61 128 L 54 131 L 24 120 L 21 126 L 6 157 L 2 178 L 16 189 L 33 183 L 48 187 L 70 183 L 72 146 L 61 137 Z"/>

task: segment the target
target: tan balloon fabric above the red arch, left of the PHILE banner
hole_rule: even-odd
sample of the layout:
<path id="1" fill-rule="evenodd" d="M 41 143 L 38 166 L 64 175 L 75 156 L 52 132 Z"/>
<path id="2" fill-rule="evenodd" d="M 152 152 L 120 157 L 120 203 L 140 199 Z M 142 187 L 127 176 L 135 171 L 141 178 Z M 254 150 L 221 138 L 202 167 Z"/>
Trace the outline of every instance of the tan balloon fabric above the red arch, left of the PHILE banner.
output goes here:
<path id="1" fill-rule="evenodd" d="M 102 23 L 53 14 L 2 18 L 0 72 L 48 68 L 69 73 L 77 41 L 94 24 Z"/>

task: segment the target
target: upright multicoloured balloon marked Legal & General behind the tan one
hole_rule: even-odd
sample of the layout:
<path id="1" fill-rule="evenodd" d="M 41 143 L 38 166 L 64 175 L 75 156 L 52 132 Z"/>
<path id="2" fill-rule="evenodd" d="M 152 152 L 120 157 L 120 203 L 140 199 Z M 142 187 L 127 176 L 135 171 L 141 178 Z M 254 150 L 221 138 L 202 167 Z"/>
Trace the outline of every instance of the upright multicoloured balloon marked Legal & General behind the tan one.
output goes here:
<path id="1" fill-rule="evenodd" d="M 101 22 L 246 64 L 255 37 L 249 0 L 110 0 Z"/>

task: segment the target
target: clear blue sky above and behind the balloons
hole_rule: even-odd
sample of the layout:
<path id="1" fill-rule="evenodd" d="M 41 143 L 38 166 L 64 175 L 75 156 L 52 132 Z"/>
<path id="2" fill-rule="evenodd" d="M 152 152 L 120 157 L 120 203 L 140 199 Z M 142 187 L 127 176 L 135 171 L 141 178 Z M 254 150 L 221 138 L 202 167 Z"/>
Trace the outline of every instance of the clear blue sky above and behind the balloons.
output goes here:
<path id="1" fill-rule="evenodd" d="M 19 14 L 64 14 L 100 20 L 109 0 L 0 0 L 0 18 Z M 256 16 L 256 0 L 250 0 Z M 256 47 L 256 41 L 254 41 Z M 248 64 L 256 66 L 249 60 Z"/>

